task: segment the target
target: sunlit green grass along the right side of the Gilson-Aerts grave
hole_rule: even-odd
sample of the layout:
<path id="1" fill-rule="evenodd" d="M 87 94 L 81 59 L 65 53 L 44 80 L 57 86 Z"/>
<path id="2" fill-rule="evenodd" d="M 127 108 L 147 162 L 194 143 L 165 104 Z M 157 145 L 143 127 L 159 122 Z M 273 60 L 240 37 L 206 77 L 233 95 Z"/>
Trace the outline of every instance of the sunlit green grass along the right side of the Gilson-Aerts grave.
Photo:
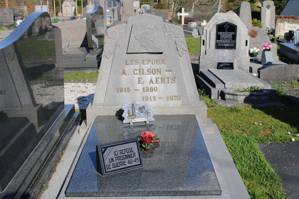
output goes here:
<path id="1" fill-rule="evenodd" d="M 283 86 L 277 87 L 277 95 L 283 95 Z M 292 138 L 299 141 L 299 106 L 225 107 L 214 103 L 203 91 L 199 90 L 199 95 L 207 104 L 208 118 L 217 124 L 250 197 L 286 198 L 281 179 L 256 143 L 285 143 Z"/>

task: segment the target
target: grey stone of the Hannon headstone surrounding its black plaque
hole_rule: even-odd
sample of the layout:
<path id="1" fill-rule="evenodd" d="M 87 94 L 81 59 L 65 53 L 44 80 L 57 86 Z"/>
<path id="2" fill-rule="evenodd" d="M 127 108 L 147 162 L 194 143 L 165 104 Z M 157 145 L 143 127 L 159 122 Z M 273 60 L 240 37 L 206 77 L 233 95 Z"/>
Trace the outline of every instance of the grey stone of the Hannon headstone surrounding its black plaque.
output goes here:
<path id="1" fill-rule="evenodd" d="M 236 26 L 237 32 L 235 49 L 216 49 L 215 47 L 217 36 L 216 26 L 225 22 L 232 24 L 232 26 Z M 218 62 L 227 62 L 233 63 L 234 69 L 249 71 L 250 57 L 248 55 L 248 43 L 248 28 L 237 14 L 216 13 L 204 27 L 204 34 L 201 37 L 199 70 L 216 69 Z"/>

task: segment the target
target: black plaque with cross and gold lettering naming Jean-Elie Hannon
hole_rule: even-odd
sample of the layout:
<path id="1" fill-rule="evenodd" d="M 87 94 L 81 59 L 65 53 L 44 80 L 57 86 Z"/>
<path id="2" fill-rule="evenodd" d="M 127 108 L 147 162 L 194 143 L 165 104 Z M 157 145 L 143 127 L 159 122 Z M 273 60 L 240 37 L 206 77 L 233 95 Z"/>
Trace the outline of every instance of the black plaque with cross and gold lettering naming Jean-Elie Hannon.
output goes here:
<path id="1" fill-rule="evenodd" d="M 229 22 L 216 26 L 216 49 L 236 49 L 237 25 Z"/>

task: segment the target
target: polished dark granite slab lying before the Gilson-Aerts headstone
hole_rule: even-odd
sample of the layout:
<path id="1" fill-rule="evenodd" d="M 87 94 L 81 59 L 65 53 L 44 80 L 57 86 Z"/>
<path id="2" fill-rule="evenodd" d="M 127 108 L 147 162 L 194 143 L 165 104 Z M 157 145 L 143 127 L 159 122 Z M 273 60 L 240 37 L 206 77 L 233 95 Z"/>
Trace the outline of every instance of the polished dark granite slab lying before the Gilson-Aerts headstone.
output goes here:
<path id="1" fill-rule="evenodd" d="M 66 197 L 221 195 L 195 115 L 155 115 L 155 121 L 122 124 L 97 116 L 66 189 Z M 96 172 L 96 145 L 152 131 L 160 138 L 152 152 L 141 149 L 143 168 L 102 177 Z"/>

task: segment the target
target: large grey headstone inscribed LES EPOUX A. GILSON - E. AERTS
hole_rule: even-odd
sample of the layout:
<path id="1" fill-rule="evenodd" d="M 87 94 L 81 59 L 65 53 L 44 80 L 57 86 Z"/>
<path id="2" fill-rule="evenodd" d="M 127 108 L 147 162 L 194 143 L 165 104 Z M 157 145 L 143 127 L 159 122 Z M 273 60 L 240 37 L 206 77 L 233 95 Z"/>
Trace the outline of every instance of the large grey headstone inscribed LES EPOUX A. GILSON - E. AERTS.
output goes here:
<path id="1" fill-rule="evenodd" d="M 201 104 L 182 27 L 142 14 L 107 30 L 87 123 L 103 114 L 96 111 L 100 107 L 121 107 L 134 100 L 146 101 L 153 109 L 172 106 L 173 111 Z"/>

